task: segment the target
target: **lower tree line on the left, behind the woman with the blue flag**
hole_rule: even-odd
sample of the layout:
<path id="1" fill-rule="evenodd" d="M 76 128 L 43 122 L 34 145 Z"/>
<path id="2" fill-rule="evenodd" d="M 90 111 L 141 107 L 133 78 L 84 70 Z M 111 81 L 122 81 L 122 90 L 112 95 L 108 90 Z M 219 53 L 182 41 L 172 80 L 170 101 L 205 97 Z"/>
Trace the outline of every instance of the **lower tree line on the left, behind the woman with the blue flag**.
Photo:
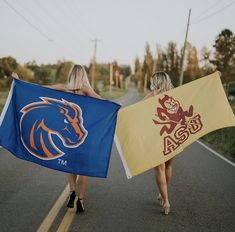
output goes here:
<path id="1" fill-rule="evenodd" d="M 36 61 L 30 61 L 26 64 L 19 64 L 14 57 L 8 56 L 0 58 L 0 90 L 9 89 L 12 72 L 16 72 L 21 79 L 41 85 L 49 85 L 55 83 L 66 83 L 68 73 L 74 65 L 72 61 L 59 60 L 56 64 L 41 64 Z M 123 80 L 131 75 L 131 67 L 129 65 L 118 64 L 117 61 L 111 63 L 93 63 L 89 66 L 84 65 L 87 71 L 90 83 L 94 78 L 94 88 L 99 91 L 106 86 L 124 88 Z M 112 69 L 112 74 L 110 70 Z"/>

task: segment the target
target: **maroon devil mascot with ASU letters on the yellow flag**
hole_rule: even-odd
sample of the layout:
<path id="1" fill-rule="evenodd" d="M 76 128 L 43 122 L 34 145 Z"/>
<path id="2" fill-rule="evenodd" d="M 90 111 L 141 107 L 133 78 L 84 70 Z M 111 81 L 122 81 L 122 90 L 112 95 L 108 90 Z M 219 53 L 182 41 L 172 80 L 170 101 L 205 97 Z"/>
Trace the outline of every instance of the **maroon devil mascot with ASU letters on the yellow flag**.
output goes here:
<path id="1" fill-rule="evenodd" d="M 164 139 L 164 155 L 170 154 L 180 144 L 184 143 L 191 134 L 196 134 L 203 127 L 201 116 L 193 113 L 193 106 L 183 110 L 179 101 L 165 95 L 159 99 L 161 107 L 157 107 L 153 122 L 162 126 L 160 135 Z M 165 134 L 165 135 L 164 135 Z"/>

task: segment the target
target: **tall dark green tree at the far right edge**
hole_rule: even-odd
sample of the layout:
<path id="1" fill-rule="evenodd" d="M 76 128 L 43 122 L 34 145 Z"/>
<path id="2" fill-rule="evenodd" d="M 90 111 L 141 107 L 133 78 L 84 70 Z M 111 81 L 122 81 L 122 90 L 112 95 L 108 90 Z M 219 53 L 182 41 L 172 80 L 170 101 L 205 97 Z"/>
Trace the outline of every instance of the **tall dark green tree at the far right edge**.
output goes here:
<path id="1" fill-rule="evenodd" d="M 214 60 L 211 63 L 222 73 L 225 87 L 235 79 L 232 75 L 235 66 L 235 36 L 229 29 L 222 30 L 216 37 L 213 45 L 215 48 Z M 233 76 L 233 77 L 232 77 Z"/>

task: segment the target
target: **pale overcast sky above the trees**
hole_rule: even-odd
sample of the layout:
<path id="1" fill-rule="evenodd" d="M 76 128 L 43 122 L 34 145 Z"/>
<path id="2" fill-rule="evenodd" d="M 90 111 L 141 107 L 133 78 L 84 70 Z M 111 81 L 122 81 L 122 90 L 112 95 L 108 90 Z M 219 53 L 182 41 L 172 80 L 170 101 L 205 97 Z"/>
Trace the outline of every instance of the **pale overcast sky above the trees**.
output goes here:
<path id="1" fill-rule="evenodd" d="M 190 8 L 188 40 L 199 51 L 222 29 L 235 33 L 232 0 L 0 0 L 0 57 L 87 65 L 97 38 L 97 62 L 132 65 L 146 42 L 153 52 L 169 41 L 180 48 Z"/>

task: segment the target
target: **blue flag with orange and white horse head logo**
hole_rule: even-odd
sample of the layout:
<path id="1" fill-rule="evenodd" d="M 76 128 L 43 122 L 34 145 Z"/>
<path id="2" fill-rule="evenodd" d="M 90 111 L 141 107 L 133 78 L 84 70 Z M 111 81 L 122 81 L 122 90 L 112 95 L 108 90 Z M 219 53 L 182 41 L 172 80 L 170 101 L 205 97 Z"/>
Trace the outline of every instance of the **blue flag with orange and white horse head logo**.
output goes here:
<path id="1" fill-rule="evenodd" d="M 14 80 L 0 117 L 0 145 L 48 168 L 106 177 L 119 108 Z"/>

